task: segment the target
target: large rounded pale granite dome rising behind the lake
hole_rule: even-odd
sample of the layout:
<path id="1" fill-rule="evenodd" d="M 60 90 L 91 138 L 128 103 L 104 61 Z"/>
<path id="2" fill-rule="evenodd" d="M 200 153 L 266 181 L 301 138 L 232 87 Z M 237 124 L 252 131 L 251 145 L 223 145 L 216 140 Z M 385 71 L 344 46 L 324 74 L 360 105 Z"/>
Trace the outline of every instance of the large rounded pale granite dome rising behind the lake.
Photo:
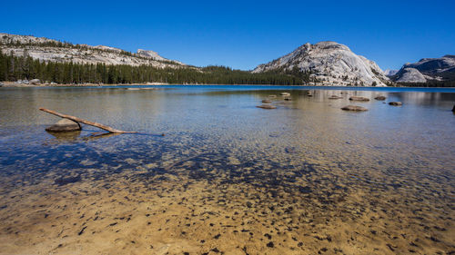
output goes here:
<path id="1" fill-rule="evenodd" d="M 389 78 L 378 64 L 354 54 L 349 47 L 335 42 L 304 44 L 295 51 L 268 64 L 260 64 L 253 73 L 278 69 L 311 72 L 318 85 L 386 86 Z"/>

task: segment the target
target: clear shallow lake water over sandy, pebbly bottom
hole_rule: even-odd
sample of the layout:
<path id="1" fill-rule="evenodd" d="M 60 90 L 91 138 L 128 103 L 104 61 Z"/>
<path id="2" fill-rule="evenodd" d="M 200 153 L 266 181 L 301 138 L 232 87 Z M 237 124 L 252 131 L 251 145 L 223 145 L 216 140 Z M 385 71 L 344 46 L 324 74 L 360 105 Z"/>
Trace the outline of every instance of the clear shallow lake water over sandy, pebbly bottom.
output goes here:
<path id="1" fill-rule="evenodd" d="M 1 90 L 0 253 L 455 252 L 455 91 L 282 90 Z"/>

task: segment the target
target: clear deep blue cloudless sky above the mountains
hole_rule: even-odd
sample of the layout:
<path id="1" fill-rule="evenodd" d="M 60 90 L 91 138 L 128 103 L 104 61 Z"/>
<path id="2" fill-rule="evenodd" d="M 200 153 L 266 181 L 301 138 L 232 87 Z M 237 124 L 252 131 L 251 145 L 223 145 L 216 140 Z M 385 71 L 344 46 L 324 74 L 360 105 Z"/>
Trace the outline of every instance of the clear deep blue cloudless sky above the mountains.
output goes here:
<path id="1" fill-rule="evenodd" d="M 0 32 L 253 69 L 336 41 L 382 69 L 455 54 L 455 1 L 4 1 Z"/>

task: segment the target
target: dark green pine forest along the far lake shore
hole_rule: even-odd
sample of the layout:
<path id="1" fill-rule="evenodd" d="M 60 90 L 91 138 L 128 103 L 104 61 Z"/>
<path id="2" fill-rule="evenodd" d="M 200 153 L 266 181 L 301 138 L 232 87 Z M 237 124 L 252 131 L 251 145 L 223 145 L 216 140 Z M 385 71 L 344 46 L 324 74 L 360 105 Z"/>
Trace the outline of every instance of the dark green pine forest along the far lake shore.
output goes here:
<path id="1" fill-rule="evenodd" d="M 308 84 L 309 74 L 277 71 L 252 74 L 226 66 L 157 68 L 151 65 L 76 64 L 35 60 L 0 51 L 0 81 L 39 79 L 43 83 L 204 83 L 204 84 Z"/>

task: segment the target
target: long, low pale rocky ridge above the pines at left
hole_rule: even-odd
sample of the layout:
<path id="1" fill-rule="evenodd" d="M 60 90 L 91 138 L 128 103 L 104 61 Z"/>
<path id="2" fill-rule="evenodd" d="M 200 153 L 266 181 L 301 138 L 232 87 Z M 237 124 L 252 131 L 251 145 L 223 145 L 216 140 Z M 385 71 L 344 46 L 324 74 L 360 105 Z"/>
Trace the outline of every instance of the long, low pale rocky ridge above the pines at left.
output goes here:
<path id="1" fill-rule="evenodd" d="M 45 37 L 0 33 L 0 50 L 16 56 L 30 55 L 45 62 L 77 64 L 147 64 L 159 68 L 178 68 L 180 62 L 164 58 L 153 51 L 137 50 L 136 54 L 105 45 L 69 44 Z"/>

